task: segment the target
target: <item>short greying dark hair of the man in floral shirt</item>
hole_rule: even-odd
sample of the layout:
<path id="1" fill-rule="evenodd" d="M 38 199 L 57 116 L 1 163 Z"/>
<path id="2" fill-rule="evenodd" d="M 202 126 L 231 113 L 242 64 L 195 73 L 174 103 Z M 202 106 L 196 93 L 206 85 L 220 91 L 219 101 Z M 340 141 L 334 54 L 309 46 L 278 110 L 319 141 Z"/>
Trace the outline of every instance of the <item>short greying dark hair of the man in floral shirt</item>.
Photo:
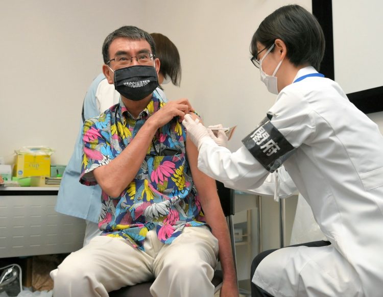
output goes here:
<path id="1" fill-rule="evenodd" d="M 110 57 L 109 57 L 109 46 L 112 43 L 112 41 L 118 37 L 126 37 L 126 38 L 131 39 L 131 40 L 146 40 L 146 41 L 148 41 L 148 43 L 150 45 L 150 49 L 152 51 L 152 54 L 154 56 L 156 55 L 156 48 L 155 48 L 154 40 L 148 32 L 143 31 L 143 30 L 141 30 L 137 27 L 134 27 L 134 26 L 123 26 L 121 28 L 118 28 L 117 30 L 114 30 L 104 40 L 102 53 L 103 53 L 103 59 L 104 59 L 105 64 L 110 59 Z"/>

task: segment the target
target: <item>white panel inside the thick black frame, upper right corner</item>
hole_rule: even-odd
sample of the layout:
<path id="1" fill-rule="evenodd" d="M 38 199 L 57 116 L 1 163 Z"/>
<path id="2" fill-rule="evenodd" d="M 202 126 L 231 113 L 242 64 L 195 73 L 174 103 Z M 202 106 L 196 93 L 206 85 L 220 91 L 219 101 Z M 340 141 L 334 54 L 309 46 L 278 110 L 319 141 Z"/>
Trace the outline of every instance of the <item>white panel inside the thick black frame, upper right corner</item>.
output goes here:
<path id="1" fill-rule="evenodd" d="M 332 1 L 334 74 L 346 94 L 381 87 L 380 0 Z M 347 11 L 345 12 L 345 7 Z M 347 29 L 346 29 L 347 28 Z"/>

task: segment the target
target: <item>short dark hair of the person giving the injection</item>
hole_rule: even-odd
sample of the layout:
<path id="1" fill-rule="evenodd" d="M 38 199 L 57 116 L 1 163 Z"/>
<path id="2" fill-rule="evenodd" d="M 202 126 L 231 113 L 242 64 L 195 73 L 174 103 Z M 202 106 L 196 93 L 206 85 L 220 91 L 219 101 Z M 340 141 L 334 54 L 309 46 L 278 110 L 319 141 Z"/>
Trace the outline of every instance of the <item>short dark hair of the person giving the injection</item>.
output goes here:
<path id="1" fill-rule="evenodd" d="M 257 42 L 270 47 L 277 38 L 286 44 L 286 57 L 291 63 L 295 66 L 309 64 L 319 71 L 325 41 L 323 30 L 314 15 L 299 5 L 277 9 L 255 31 L 250 44 L 251 54 L 257 54 Z"/>

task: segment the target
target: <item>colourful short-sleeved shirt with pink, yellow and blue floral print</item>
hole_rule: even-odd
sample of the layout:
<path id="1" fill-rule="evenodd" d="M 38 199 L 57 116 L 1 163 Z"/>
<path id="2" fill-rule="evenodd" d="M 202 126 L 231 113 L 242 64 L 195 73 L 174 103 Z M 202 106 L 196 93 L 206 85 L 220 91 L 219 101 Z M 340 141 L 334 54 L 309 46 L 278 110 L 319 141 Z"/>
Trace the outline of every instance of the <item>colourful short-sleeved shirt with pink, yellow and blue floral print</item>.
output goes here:
<path id="1" fill-rule="evenodd" d="M 121 102 L 86 120 L 80 182 L 97 184 L 93 169 L 117 157 L 148 117 L 163 106 L 161 98 L 153 95 L 136 119 Z M 206 224 L 185 156 L 185 139 L 185 128 L 175 117 L 157 131 L 137 175 L 121 196 L 102 193 L 99 228 L 103 235 L 123 237 L 143 250 L 149 230 L 155 229 L 163 243 L 171 243 L 184 227 Z"/>

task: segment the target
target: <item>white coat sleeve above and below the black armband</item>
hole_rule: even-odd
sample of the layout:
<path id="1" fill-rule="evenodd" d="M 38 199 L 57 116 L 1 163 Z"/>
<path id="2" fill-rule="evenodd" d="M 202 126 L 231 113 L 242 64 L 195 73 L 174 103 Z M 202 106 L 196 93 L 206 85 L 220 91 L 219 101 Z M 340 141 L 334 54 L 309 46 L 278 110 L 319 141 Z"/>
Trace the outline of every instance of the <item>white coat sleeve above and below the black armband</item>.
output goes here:
<path id="1" fill-rule="evenodd" d="M 268 114 L 274 127 L 297 148 L 315 134 L 315 121 L 299 86 L 285 89 Z M 244 145 L 231 153 L 209 138 L 200 147 L 198 168 L 225 186 L 242 190 L 260 187 L 269 175 Z"/>

